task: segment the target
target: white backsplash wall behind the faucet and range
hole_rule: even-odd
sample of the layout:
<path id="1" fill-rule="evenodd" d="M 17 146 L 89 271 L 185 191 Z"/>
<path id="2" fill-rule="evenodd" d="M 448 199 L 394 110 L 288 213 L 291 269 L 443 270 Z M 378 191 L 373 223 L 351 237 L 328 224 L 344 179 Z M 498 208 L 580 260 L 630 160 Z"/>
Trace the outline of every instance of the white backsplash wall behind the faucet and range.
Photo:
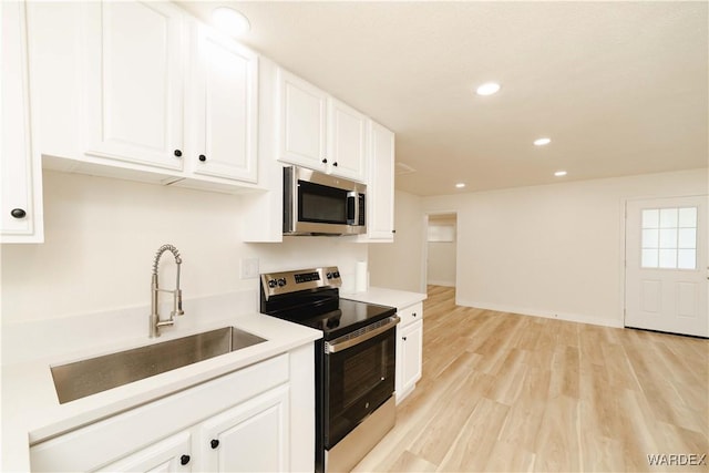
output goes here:
<path id="1" fill-rule="evenodd" d="M 258 258 L 260 273 L 337 265 L 345 288 L 354 284 L 366 244 L 327 237 L 244 244 L 240 205 L 235 195 L 45 171 L 45 243 L 2 246 L 2 323 L 150 306 L 153 258 L 166 243 L 182 255 L 185 305 L 257 295 L 258 279 L 240 278 L 243 258 Z M 173 261 L 166 253 L 160 264 L 166 289 L 175 284 Z M 257 297 L 235 310 L 254 309 Z"/>

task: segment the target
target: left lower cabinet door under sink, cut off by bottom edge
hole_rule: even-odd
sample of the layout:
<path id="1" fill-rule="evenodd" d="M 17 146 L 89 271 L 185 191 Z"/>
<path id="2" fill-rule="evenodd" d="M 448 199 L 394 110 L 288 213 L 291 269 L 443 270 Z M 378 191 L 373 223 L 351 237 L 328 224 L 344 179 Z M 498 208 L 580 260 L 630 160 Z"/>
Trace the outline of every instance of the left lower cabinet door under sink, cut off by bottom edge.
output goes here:
<path id="1" fill-rule="evenodd" d="M 97 471 L 191 472 L 194 463 L 192 435 L 189 431 L 185 431 L 102 466 Z"/>

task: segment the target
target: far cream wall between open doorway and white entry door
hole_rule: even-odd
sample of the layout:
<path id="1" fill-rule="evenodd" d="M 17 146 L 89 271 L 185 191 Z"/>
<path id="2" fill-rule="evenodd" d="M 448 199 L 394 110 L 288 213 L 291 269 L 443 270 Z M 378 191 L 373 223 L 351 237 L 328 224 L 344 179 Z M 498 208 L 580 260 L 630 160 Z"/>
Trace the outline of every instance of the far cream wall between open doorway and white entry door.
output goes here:
<path id="1" fill-rule="evenodd" d="M 709 193 L 707 169 L 427 197 L 458 210 L 458 304 L 621 326 L 625 202 Z"/>

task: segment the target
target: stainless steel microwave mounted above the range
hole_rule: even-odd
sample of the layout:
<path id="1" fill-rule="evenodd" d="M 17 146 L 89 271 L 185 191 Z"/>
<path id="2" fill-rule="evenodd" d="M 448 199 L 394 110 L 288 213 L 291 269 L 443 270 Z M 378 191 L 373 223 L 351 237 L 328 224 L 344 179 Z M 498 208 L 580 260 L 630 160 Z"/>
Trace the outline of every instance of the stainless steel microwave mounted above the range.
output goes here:
<path id="1" fill-rule="evenodd" d="M 367 186 L 299 166 L 284 167 L 284 235 L 367 233 Z"/>

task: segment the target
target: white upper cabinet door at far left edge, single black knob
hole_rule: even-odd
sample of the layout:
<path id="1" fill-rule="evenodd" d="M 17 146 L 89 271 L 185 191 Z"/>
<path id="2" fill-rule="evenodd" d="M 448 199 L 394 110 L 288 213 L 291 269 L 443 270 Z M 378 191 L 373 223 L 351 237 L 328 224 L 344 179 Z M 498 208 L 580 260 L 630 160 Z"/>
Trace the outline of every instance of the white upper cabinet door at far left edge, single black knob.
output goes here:
<path id="1" fill-rule="evenodd" d="M 42 168 L 31 134 L 24 9 L 24 2 L 0 2 L 2 243 L 42 241 Z"/>

